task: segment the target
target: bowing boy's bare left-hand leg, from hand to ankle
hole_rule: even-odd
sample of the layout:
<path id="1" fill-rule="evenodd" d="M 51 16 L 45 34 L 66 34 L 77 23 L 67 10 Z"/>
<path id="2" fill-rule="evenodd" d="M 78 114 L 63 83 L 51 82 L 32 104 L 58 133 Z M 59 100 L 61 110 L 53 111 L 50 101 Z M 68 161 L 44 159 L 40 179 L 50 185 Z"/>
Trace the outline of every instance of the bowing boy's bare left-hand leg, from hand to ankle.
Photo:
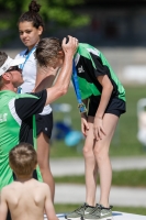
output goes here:
<path id="1" fill-rule="evenodd" d="M 93 117 L 88 118 L 89 131 L 83 146 L 85 156 L 85 173 L 86 173 L 86 201 L 89 206 L 96 206 L 96 190 L 97 190 L 97 176 L 98 166 L 93 154 L 93 131 L 92 123 Z"/>

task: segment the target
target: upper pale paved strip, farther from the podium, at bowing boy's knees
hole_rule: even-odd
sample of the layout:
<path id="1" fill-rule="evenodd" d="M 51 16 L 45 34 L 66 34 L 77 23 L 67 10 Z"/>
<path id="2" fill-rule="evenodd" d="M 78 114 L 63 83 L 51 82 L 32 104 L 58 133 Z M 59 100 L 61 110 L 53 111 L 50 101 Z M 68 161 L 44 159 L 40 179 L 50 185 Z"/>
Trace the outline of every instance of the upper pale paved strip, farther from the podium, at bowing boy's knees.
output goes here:
<path id="1" fill-rule="evenodd" d="M 113 157 L 111 158 L 113 170 L 146 168 L 146 156 L 141 157 Z M 50 160 L 54 176 L 81 175 L 85 173 L 83 158 L 57 158 Z"/>

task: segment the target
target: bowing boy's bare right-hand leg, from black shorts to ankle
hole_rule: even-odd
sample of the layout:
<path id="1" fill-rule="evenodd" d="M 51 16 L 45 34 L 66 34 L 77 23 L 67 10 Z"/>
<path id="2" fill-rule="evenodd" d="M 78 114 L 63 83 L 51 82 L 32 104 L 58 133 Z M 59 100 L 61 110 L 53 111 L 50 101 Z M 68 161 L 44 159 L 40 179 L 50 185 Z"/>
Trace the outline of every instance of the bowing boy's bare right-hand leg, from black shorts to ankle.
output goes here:
<path id="1" fill-rule="evenodd" d="M 100 204 L 109 208 L 109 195 L 112 182 L 112 166 L 109 157 L 109 148 L 114 134 L 119 118 L 114 114 L 105 113 L 103 118 L 103 128 L 106 135 L 96 142 L 94 155 L 100 175 Z"/>

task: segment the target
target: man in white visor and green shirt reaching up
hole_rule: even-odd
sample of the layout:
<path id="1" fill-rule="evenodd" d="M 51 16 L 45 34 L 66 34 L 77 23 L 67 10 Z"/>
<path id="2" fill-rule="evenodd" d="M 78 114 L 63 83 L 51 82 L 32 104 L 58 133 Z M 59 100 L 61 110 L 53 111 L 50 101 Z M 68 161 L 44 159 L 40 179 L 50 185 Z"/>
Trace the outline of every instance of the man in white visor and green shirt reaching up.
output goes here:
<path id="1" fill-rule="evenodd" d="M 64 37 L 60 44 L 65 59 L 59 76 L 53 87 L 40 92 L 16 94 L 16 88 L 23 84 L 22 69 L 19 65 L 24 61 L 12 59 L 4 52 L 0 52 L 0 190 L 16 179 L 9 166 L 9 152 L 21 142 L 30 143 L 36 150 L 35 114 L 68 90 L 78 40 L 69 36 L 69 42 L 66 43 Z M 47 75 L 47 69 L 45 74 Z M 33 177 L 42 182 L 38 166 Z"/>

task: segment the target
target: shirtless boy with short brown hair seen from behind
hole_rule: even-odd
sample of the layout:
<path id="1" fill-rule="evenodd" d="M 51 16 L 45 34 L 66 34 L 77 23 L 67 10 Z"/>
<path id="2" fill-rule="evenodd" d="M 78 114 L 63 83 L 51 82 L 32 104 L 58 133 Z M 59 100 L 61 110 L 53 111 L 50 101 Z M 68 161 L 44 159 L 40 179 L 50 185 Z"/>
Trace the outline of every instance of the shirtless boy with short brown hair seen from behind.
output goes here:
<path id="1" fill-rule="evenodd" d="M 37 166 L 34 147 L 27 143 L 14 146 L 9 164 L 16 180 L 1 190 L 0 220 L 7 219 L 8 209 L 12 220 L 44 220 L 44 211 L 49 220 L 58 220 L 48 185 L 32 178 Z"/>

